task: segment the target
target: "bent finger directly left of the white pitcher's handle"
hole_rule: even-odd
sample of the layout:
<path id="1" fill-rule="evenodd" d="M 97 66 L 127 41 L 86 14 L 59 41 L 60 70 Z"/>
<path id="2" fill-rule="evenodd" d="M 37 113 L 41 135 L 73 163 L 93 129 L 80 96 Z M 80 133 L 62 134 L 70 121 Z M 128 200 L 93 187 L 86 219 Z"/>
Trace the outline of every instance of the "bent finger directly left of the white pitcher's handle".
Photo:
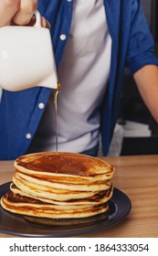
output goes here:
<path id="1" fill-rule="evenodd" d="M 21 0 L 21 5 L 13 17 L 13 21 L 16 25 L 27 25 L 30 23 L 36 10 L 37 0 Z"/>

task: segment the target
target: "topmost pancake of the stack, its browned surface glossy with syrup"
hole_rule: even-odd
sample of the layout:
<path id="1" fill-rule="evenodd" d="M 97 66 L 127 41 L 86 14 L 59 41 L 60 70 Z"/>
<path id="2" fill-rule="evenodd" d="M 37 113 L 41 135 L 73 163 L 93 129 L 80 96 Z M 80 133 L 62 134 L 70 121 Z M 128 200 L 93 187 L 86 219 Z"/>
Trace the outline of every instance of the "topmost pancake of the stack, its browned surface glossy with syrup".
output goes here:
<path id="1" fill-rule="evenodd" d="M 113 166 L 99 158 L 65 152 L 22 155 L 15 161 L 17 170 L 47 176 L 96 176 L 113 172 Z"/>

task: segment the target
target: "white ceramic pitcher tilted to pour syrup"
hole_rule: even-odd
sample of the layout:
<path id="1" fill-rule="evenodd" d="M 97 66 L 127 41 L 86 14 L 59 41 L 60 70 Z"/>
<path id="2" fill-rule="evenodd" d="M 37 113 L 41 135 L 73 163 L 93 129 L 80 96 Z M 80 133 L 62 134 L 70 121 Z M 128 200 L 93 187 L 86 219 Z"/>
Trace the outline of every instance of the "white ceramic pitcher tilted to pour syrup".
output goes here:
<path id="1" fill-rule="evenodd" d="M 0 87 L 7 91 L 58 88 L 50 32 L 41 27 L 38 11 L 35 15 L 34 27 L 0 27 Z"/>

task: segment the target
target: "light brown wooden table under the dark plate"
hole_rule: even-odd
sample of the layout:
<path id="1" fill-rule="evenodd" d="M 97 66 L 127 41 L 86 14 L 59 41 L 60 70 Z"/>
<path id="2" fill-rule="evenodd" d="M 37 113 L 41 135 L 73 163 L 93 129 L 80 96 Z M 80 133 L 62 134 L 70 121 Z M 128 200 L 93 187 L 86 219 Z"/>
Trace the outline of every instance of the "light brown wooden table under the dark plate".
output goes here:
<path id="1" fill-rule="evenodd" d="M 78 237 L 157 238 L 158 237 L 158 155 L 100 157 L 115 166 L 114 187 L 132 201 L 128 217 L 114 227 Z M 13 161 L 0 162 L 0 184 L 14 174 Z M 13 237 L 0 234 L 0 237 Z"/>

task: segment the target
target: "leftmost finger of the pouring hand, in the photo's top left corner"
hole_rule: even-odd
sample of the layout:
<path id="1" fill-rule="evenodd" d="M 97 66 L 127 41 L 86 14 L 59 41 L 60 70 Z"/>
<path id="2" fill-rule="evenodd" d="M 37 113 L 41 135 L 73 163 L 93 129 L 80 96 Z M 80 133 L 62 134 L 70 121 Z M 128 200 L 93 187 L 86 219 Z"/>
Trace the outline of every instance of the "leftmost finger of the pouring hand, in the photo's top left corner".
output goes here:
<path id="1" fill-rule="evenodd" d="M 0 1 L 0 27 L 5 26 L 15 16 L 20 7 L 21 0 L 1 0 Z"/>

